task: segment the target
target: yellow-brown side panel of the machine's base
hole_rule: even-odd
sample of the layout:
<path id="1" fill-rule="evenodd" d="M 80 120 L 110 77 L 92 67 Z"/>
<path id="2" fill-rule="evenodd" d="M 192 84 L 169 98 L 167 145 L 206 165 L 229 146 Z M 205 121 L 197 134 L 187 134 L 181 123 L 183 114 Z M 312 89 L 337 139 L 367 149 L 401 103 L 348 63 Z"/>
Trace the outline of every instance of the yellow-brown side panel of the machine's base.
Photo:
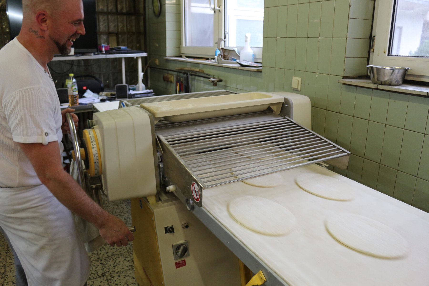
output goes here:
<path id="1" fill-rule="evenodd" d="M 131 200 L 131 220 L 136 227 L 133 256 L 137 282 L 140 286 L 162 285 L 164 281 L 154 213 L 144 199 Z"/>

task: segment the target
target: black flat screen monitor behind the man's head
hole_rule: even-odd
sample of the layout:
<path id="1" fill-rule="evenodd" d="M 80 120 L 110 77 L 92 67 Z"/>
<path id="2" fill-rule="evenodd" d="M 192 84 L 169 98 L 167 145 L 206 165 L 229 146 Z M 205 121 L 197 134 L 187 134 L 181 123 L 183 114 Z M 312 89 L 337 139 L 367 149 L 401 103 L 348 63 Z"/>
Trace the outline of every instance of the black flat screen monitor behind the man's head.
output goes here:
<path id="1" fill-rule="evenodd" d="M 76 53 L 97 51 L 97 10 L 95 0 L 82 0 L 85 14 L 85 35 L 73 43 Z M 6 12 L 9 18 L 10 39 L 18 36 L 22 25 L 22 0 L 6 0 Z"/>

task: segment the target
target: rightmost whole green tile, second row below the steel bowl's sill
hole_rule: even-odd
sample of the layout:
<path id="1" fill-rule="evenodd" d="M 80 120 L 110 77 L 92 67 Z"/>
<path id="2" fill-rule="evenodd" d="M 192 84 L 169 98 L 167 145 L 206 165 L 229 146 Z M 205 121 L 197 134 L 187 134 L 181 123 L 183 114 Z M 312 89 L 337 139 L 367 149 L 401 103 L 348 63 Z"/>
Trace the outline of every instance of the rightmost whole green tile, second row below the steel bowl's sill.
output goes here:
<path id="1" fill-rule="evenodd" d="M 424 134 L 404 130 L 402 139 L 401 157 L 399 157 L 398 170 L 417 176 L 422 154 Z"/>

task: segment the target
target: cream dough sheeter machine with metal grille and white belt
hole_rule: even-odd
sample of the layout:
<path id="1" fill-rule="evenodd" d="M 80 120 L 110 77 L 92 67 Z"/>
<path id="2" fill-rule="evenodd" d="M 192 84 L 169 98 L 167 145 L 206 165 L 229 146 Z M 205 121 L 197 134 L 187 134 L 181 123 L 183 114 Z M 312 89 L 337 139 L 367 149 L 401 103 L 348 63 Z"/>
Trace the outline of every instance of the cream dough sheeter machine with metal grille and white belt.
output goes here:
<path id="1" fill-rule="evenodd" d="M 88 190 L 132 199 L 141 286 L 244 286 L 253 275 L 245 266 L 256 274 L 247 285 L 429 284 L 429 214 L 319 166 L 345 169 L 350 152 L 311 131 L 306 96 L 221 90 L 120 106 L 94 114 L 76 154 Z M 243 183 L 274 173 L 279 186 Z M 294 180 L 306 173 L 343 181 L 353 199 L 305 192 Z M 228 204 L 248 195 L 284 206 L 296 226 L 276 236 L 238 223 Z M 350 212 L 399 231 L 412 246 L 407 256 L 375 258 L 336 241 L 325 219 Z"/>

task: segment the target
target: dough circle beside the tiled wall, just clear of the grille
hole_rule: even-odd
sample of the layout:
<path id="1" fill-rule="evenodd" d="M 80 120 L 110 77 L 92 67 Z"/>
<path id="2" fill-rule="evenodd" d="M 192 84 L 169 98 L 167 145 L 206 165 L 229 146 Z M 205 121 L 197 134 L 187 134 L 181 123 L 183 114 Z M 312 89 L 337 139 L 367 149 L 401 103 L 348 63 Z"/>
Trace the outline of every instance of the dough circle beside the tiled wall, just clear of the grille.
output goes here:
<path id="1" fill-rule="evenodd" d="M 348 184 L 322 174 L 305 173 L 295 178 L 295 183 L 313 195 L 335 201 L 349 201 L 354 191 Z"/>

